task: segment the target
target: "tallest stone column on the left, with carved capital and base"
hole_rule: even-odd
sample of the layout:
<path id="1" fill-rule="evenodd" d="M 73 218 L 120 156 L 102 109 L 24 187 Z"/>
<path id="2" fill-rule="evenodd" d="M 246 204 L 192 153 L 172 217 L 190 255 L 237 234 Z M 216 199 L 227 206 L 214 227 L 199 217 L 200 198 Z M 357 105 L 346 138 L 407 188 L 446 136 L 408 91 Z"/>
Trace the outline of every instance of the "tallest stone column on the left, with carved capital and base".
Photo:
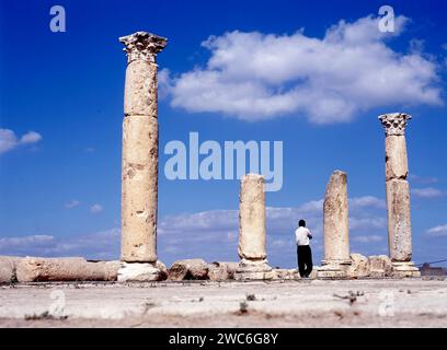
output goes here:
<path id="1" fill-rule="evenodd" d="M 137 32 L 119 38 L 127 55 L 118 281 L 158 280 L 158 102 L 156 56 L 167 39 Z M 144 277 L 144 278 L 142 278 Z"/>

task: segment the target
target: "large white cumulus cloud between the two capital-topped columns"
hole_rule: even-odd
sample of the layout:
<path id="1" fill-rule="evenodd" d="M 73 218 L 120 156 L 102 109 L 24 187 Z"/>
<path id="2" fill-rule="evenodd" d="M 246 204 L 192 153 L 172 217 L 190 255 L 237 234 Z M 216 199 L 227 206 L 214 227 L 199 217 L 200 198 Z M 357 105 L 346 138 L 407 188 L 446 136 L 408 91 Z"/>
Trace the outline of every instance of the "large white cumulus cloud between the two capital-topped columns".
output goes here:
<path id="1" fill-rule="evenodd" d="M 255 121 L 303 115 L 311 122 L 349 121 L 375 107 L 442 104 L 437 65 L 414 49 L 398 52 L 371 15 L 340 21 L 322 38 L 229 32 L 210 36 L 205 67 L 172 77 L 161 71 L 161 95 L 191 113 L 222 113 Z"/>

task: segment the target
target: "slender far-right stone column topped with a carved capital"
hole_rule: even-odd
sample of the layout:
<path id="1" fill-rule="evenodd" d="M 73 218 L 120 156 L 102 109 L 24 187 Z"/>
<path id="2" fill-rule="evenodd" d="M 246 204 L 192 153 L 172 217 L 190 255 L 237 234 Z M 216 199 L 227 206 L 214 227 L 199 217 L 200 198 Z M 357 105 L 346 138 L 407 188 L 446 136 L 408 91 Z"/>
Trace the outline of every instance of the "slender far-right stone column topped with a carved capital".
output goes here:
<path id="1" fill-rule="evenodd" d="M 385 128 L 386 189 L 388 209 L 388 243 L 396 277 L 419 277 L 419 269 L 411 261 L 410 187 L 406 180 L 405 126 L 411 116 L 391 113 L 379 116 Z"/>

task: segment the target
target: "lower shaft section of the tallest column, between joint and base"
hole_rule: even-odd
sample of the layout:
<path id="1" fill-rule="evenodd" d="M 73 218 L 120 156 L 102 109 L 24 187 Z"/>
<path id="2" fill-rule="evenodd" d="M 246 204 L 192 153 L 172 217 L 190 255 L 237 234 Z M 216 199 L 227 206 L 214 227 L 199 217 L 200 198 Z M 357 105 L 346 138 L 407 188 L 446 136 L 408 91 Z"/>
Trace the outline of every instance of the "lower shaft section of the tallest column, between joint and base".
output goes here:
<path id="1" fill-rule="evenodd" d="M 123 122 L 123 261 L 157 261 L 157 206 L 158 122 L 129 116 Z"/>

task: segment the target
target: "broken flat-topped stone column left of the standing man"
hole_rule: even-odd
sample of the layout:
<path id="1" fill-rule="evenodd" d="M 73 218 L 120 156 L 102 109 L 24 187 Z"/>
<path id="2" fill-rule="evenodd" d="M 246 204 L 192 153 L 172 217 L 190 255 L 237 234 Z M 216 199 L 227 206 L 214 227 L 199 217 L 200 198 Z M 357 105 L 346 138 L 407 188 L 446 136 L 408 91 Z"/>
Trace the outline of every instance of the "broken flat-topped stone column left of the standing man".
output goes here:
<path id="1" fill-rule="evenodd" d="M 265 249 L 264 177 L 244 175 L 239 195 L 239 246 L 241 261 L 234 273 L 237 280 L 263 280 L 273 277 Z"/>

